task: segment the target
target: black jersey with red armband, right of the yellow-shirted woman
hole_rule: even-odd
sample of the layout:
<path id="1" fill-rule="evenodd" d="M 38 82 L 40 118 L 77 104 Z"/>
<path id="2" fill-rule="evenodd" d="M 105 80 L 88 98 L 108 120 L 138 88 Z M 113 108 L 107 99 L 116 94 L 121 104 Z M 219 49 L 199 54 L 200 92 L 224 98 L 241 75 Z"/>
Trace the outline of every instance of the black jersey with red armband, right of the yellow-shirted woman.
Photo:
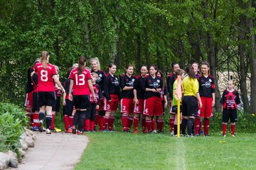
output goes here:
<path id="1" fill-rule="evenodd" d="M 215 80 L 214 77 L 208 75 L 208 77 L 198 77 L 199 82 L 199 94 L 204 97 L 212 97 L 215 93 Z"/>

